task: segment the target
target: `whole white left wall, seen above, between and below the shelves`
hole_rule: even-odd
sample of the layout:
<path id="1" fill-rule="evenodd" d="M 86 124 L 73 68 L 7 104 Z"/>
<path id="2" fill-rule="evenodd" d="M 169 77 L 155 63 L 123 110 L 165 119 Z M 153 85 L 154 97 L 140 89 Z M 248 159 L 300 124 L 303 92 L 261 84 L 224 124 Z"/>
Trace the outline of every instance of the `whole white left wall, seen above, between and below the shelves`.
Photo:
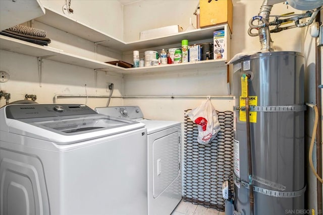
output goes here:
<path id="1" fill-rule="evenodd" d="M 62 6 L 65 4 L 65 1 L 44 0 L 41 3 L 63 14 Z M 122 37 L 122 27 L 115 28 L 115 25 L 109 26 L 109 22 L 106 21 L 118 20 L 122 22 L 122 5 L 118 1 L 71 1 L 71 8 L 74 9 L 74 14 L 68 16 L 73 16 L 73 18 L 80 19 L 83 23 L 93 25 L 94 27 L 102 28 L 102 31 L 111 30 L 111 35 L 115 34 L 118 37 Z M 107 12 L 110 10 L 112 12 L 99 13 L 107 8 L 109 8 L 109 10 L 106 10 Z M 51 43 L 48 44 L 49 47 L 102 62 L 122 58 L 121 53 L 101 45 L 97 45 L 97 52 L 95 52 L 93 42 L 57 28 L 37 21 L 25 23 L 25 25 L 27 24 L 33 28 L 46 31 L 46 36 L 51 40 Z M 6 71 L 10 75 L 8 82 L 0 83 L 0 90 L 11 93 L 10 102 L 24 99 L 25 94 L 35 94 L 37 96 L 36 102 L 38 103 L 52 103 L 53 97 L 57 94 L 109 96 L 110 91 L 106 90 L 106 83 L 114 83 L 114 96 L 123 94 L 122 76 L 97 71 L 95 84 L 93 69 L 52 61 L 50 57 L 43 59 L 42 87 L 39 87 L 36 57 L 4 50 L 1 50 L 0 53 L 0 70 Z M 5 102 L 2 98 L 0 106 L 5 105 Z M 59 98 L 57 102 L 81 103 L 94 108 L 106 106 L 107 98 Z M 122 105 L 122 99 L 113 99 L 110 105 Z"/>

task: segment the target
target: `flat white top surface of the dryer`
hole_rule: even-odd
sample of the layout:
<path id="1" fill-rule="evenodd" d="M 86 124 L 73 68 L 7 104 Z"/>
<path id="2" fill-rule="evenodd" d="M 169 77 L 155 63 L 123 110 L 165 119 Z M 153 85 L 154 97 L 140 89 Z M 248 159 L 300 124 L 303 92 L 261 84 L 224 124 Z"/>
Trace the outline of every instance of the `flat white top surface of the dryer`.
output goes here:
<path id="1" fill-rule="evenodd" d="M 147 128 L 147 134 L 155 133 L 181 124 L 180 122 L 176 122 L 176 121 L 150 120 L 150 119 L 141 119 L 137 121 L 145 124 L 145 127 Z"/>

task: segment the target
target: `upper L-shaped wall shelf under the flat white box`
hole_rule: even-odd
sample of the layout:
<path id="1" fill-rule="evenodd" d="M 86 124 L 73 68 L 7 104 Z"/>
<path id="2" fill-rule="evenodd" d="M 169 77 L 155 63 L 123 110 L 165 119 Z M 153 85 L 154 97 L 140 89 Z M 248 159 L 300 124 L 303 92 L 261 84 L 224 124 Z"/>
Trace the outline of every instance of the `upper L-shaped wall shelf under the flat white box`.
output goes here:
<path id="1" fill-rule="evenodd" d="M 38 17 L 35 20 L 46 25 L 64 30 L 86 40 L 92 42 L 100 42 L 100 45 L 120 51 L 132 51 L 143 48 L 152 48 L 163 46 L 165 44 L 179 44 L 183 39 L 187 39 L 189 41 L 211 39 L 213 37 L 213 31 L 224 29 L 226 26 L 226 24 L 224 24 L 203 29 L 180 32 L 167 36 L 155 37 L 146 40 L 125 42 L 113 36 L 107 35 L 102 31 L 93 29 L 89 25 L 81 23 L 79 20 L 55 12 L 52 9 L 45 8 L 45 11 L 46 14 L 44 16 Z"/>

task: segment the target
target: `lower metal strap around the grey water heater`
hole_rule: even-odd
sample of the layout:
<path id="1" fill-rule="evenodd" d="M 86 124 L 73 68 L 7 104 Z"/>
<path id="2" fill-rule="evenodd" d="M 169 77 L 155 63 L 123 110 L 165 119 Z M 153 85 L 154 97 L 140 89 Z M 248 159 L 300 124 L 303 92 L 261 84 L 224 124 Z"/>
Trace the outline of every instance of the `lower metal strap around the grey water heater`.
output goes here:
<path id="1" fill-rule="evenodd" d="M 235 183 L 239 183 L 242 187 L 250 189 L 249 183 L 247 183 L 245 181 L 241 181 L 234 174 L 233 174 L 233 179 L 234 179 Z M 274 196 L 274 197 L 285 197 L 285 198 L 298 197 L 298 196 L 303 195 L 305 193 L 305 190 L 306 190 L 306 185 L 300 190 L 289 191 L 289 192 L 270 190 L 270 189 L 265 189 L 265 188 L 261 188 L 261 187 L 257 187 L 257 186 L 253 185 L 254 192 L 258 192 L 258 193 L 262 193 L 264 195 L 269 195 L 269 196 Z"/>

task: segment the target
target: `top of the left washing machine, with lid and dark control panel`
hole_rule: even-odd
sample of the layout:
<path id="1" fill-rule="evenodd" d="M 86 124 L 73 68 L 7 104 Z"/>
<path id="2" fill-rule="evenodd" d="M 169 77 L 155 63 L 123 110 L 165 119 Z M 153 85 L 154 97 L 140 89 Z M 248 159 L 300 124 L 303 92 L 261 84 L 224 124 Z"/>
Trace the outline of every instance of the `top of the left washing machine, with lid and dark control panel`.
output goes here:
<path id="1" fill-rule="evenodd" d="M 144 124 L 96 113 L 85 105 L 8 105 L 1 130 L 68 145 L 144 127 Z"/>

